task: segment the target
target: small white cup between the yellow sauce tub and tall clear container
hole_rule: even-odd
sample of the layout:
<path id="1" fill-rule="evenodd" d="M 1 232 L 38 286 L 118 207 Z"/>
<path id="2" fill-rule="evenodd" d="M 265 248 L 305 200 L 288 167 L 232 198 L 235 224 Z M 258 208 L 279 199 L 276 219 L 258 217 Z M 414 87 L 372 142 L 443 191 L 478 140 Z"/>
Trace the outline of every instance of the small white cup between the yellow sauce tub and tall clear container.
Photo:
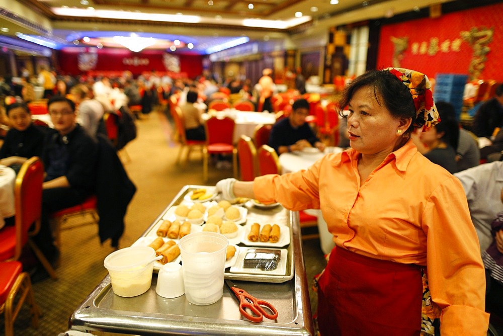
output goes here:
<path id="1" fill-rule="evenodd" d="M 167 263 L 159 270 L 157 276 L 157 295 L 165 298 L 175 298 L 185 294 L 184 274 L 182 265 Z"/>

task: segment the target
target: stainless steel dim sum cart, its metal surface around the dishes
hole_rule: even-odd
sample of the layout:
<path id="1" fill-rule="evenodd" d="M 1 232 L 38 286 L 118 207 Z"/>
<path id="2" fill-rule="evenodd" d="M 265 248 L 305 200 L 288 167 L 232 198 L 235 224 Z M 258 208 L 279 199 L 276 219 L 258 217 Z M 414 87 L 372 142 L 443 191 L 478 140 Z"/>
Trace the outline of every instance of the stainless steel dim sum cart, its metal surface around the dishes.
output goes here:
<path id="1" fill-rule="evenodd" d="M 172 207 L 187 200 L 187 195 L 199 188 L 205 187 L 189 185 L 182 188 L 143 233 L 143 237 L 151 235 Z M 273 304 L 278 310 L 276 320 L 264 319 L 254 323 L 242 317 L 234 294 L 225 285 L 222 299 L 211 305 L 198 306 L 189 303 L 185 295 L 174 299 L 158 296 L 155 292 L 157 274 L 153 275 L 151 287 L 146 293 L 132 298 L 115 295 L 107 275 L 72 313 L 69 328 L 140 335 L 312 335 L 314 327 L 298 214 L 281 205 L 265 209 L 255 206 L 246 208 L 248 221 L 274 222 L 290 228 L 290 243 L 283 247 L 288 251 L 286 271 L 278 276 L 237 274 L 226 269 L 225 278 L 232 279 L 251 295 Z"/>

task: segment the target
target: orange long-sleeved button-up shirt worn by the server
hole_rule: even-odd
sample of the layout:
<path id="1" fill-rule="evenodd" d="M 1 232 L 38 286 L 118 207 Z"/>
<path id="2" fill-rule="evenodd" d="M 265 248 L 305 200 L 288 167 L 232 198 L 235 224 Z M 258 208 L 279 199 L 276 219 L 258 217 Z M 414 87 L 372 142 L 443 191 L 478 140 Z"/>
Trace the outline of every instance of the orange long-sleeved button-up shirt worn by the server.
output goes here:
<path id="1" fill-rule="evenodd" d="M 353 149 L 327 154 L 307 171 L 255 179 L 261 202 L 321 209 L 338 247 L 404 264 L 426 265 L 442 308 L 442 335 L 486 334 L 485 274 L 463 187 L 408 141 L 360 186 Z"/>

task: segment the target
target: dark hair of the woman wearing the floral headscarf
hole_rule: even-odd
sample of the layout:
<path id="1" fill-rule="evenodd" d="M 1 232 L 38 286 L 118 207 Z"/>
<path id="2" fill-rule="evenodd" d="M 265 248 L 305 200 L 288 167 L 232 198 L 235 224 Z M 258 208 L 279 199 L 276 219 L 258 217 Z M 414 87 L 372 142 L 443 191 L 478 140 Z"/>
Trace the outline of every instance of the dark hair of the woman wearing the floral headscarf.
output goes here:
<path id="1" fill-rule="evenodd" d="M 414 127 L 423 126 L 417 125 L 417 123 L 414 126 L 416 110 L 409 89 L 388 70 L 369 70 L 356 77 L 344 88 L 343 97 L 339 102 L 339 114 L 342 117 L 345 117 L 343 110 L 348 106 L 355 92 L 364 87 L 370 87 L 374 90 L 377 103 L 385 107 L 393 117 L 399 120 L 412 119 L 412 123 L 405 133 L 410 134 Z"/>

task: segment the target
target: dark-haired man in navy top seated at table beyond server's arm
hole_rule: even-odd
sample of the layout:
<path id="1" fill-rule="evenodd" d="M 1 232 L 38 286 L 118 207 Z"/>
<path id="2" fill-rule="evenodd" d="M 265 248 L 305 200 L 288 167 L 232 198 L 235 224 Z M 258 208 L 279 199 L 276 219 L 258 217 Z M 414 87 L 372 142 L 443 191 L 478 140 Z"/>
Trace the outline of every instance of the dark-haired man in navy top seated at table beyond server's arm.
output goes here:
<path id="1" fill-rule="evenodd" d="M 302 150 L 306 147 L 325 149 L 313 130 L 306 123 L 309 115 L 309 103 L 305 99 L 296 100 L 292 105 L 292 113 L 288 118 L 278 121 L 272 128 L 269 136 L 269 146 L 274 148 L 278 155 Z"/>

